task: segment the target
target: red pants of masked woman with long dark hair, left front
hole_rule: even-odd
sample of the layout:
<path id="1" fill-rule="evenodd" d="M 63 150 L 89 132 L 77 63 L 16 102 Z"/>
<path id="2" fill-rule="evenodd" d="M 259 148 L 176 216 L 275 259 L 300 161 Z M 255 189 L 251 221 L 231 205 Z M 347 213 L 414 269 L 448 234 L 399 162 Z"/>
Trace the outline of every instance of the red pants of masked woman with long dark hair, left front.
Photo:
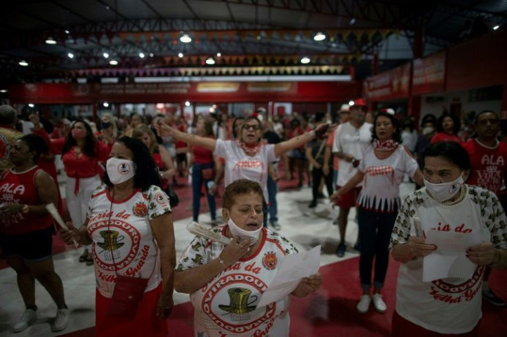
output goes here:
<path id="1" fill-rule="evenodd" d="M 99 290 L 95 293 L 95 336 L 156 336 L 166 337 L 167 320 L 156 317 L 156 303 L 162 293 L 162 284 L 151 292 L 145 292 L 143 301 L 139 304 L 133 320 L 125 320 L 119 316 L 108 316 L 107 308 L 111 298 L 101 295 Z"/>

